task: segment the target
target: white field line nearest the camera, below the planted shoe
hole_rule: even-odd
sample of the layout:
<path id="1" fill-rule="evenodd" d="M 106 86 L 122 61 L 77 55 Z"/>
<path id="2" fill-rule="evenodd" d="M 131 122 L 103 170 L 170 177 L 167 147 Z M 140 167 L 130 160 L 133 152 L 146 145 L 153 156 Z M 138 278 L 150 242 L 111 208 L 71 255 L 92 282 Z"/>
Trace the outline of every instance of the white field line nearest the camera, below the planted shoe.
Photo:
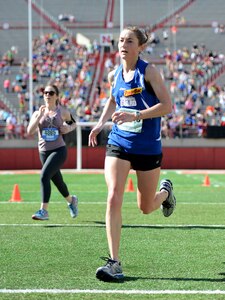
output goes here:
<path id="1" fill-rule="evenodd" d="M 223 290 L 63 290 L 63 289 L 0 289 L 2 294 L 137 294 L 137 295 L 225 295 Z"/>

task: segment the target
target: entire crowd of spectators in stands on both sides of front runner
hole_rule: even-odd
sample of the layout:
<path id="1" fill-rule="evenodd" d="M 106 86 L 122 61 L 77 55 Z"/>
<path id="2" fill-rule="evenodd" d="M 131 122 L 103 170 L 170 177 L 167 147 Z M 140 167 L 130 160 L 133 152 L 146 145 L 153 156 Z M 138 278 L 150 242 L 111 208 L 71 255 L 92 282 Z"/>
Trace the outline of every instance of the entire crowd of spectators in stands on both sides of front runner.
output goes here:
<path id="1" fill-rule="evenodd" d="M 148 49 L 148 48 L 147 48 Z M 109 95 L 107 74 L 119 64 L 118 53 L 105 57 L 103 78 L 98 82 L 93 104 L 89 103 L 93 76 L 100 46 L 93 42 L 88 46 L 77 45 L 71 37 L 49 33 L 33 40 L 33 105 L 34 110 L 43 102 L 43 88 L 54 83 L 61 91 L 61 105 L 68 106 L 78 121 L 95 121 Z M 4 80 L 2 91 L 13 94 L 18 100 L 19 119 L 0 111 L 0 120 L 6 123 L 5 138 L 29 138 L 26 126 L 29 121 L 28 61 L 24 58 L 16 75 L 11 74 L 14 47 L 4 54 L 0 72 Z M 151 60 L 148 50 L 143 53 Z M 165 49 L 158 66 L 171 93 L 174 110 L 162 118 L 162 136 L 202 137 L 208 125 L 225 125 L 225 86 L 214 83 L 214 75 L 224 67 L 224 55 L 194 44 L 191 49 L 176 51 Z"/>

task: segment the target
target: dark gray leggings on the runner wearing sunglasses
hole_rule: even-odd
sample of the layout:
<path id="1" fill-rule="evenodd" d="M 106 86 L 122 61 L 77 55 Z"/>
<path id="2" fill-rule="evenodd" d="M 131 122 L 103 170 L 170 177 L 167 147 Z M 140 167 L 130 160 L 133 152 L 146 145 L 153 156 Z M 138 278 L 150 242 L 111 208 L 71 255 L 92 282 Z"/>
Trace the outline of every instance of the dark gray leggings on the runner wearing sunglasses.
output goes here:
<path id="1" fill-rule="evenodd" d="M 63 181 L 60 168 L 67 157 L 67 148 L 60 147 L 55 150 L 40 152 L 42 163 L 41 170 L 41 193 L 42 202 L 48 203 L 51 196 L 51 180 L 63 197 L 69 196 L 67 185 Z"/>

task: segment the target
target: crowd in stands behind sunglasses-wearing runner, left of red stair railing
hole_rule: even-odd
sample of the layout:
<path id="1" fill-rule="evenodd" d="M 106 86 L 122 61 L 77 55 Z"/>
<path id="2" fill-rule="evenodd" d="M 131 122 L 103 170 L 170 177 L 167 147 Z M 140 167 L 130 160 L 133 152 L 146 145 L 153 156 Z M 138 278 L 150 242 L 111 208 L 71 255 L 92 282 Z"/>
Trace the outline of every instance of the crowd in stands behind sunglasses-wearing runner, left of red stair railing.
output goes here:
<path id="1" fill-rule="evenodd" d="M 33 40 L 33 110 L 43 103 L 43 89 L 47 82 L 57 85 L 60 91 L 60 104 L 68 106 L 79 121 L 89 121 L 97 116 L 98 107 L 89 105 L 89 94 L 93 75 L 99 56 L 99 45 L 77 45 L 67 35 L 45 34 Z M 19 118 L 14 116 L 12 125 L 8 125 L 12 114 L 2 109 L 0 120 L 6 122 L 5 138 L 27 138 L 29 121 L 29 69 L 28 61 L 21 61 L 16 75 L 3 72 L 2 91 L 6 96 L 17 98 Z M 93 112 L 93 113 L 92 113 Z M 21 127 L 23 130 L 21 130 Z M 18 129 L 20 128 L 20 129 Z"/>

